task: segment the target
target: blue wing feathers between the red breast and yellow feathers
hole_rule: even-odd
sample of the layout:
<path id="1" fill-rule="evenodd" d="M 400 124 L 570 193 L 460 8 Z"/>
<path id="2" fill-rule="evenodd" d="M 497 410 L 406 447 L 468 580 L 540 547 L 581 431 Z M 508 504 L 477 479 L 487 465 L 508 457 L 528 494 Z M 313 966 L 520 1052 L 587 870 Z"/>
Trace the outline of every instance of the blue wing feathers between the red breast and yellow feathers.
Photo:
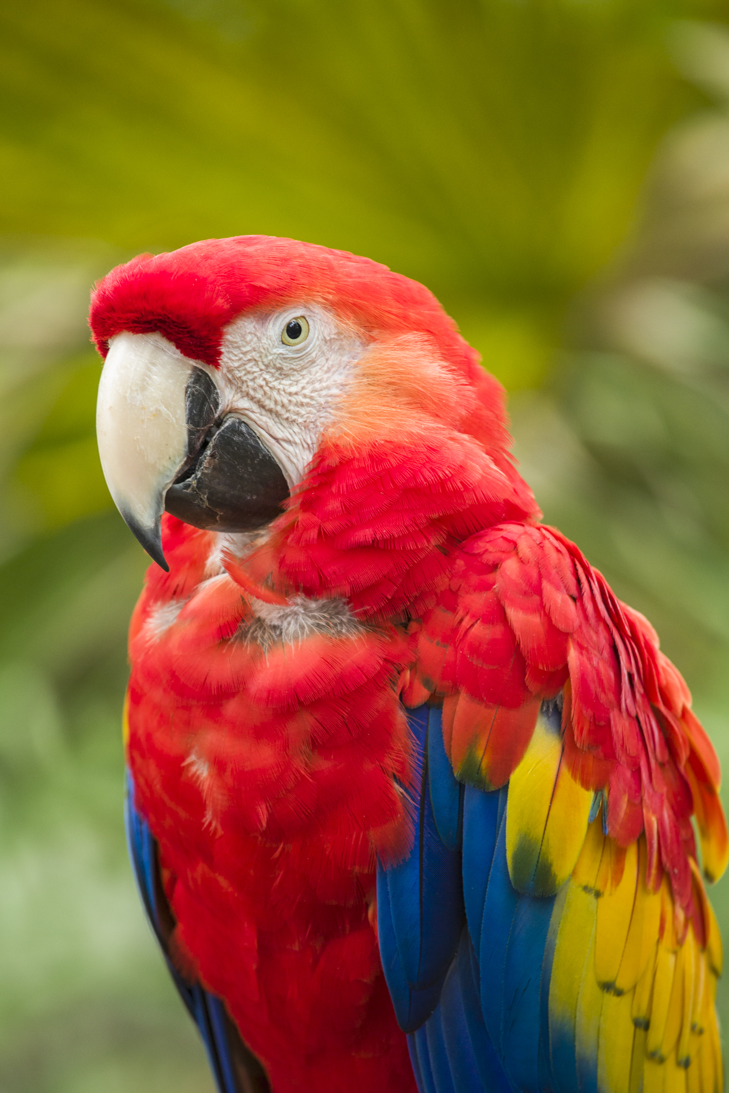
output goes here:
<path id="1" fill-rule="evenodd" d="M 418 1086 L 551 1093 L 557 1084 L 549 989 L 564 890 L 551 897 L 515 890 L 506 858 L 508 787 L 460 787 L 439 710 L 420 707 L 410 719 L 422 762 L 415 845 L 400 866 L 378 865 L 378 920 Z M 576 1084 L 563 1093 L 577 1093 Z"/>

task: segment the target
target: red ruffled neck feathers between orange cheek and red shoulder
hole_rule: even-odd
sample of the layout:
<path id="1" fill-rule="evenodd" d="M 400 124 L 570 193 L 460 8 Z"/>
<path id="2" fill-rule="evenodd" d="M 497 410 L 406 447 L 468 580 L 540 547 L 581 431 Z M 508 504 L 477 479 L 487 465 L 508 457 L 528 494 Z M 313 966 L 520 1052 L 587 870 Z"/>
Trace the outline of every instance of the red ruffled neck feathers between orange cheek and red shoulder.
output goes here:
<path id="1" fill-rule="evenodd" d="M 283 595 L 341 598 L 361 620 L 407 621 L 435 602 L 466 538 L 539 516 L 512 461 L 462 434 L 329 447 L 244 565 Z"/>

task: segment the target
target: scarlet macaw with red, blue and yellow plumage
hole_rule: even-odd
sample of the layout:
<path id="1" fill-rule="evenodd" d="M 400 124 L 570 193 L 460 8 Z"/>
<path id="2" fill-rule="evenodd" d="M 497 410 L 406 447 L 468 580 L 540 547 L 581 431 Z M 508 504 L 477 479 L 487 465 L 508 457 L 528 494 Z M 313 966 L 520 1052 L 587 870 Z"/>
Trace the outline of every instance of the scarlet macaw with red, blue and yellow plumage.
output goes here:
<path id="1" fill-rule="evenodd" d="M 243 236 L 91 327 L 131 859 L 221 1093 L 720 1091 L 716 753 L 435 297 Z"/>

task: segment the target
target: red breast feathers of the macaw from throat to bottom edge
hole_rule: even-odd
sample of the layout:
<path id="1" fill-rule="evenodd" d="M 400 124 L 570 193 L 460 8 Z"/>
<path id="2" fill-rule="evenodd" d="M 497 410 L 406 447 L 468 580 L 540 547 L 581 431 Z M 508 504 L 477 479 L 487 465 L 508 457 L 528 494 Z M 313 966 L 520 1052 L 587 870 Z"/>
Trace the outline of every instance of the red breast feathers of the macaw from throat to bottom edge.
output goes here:
<path id="1" fill-rule="evenodd" d="M 407 638 L 322 622 L 285 647 L 226 574 L 200 581 L 212 537 L 166 524 L 171 573 L 150 572 L 132 623 L 129 762 L 178 959 L 274 1089 L 413 1089 L 367 919 L 376 851 L 409 837 Z"/>

